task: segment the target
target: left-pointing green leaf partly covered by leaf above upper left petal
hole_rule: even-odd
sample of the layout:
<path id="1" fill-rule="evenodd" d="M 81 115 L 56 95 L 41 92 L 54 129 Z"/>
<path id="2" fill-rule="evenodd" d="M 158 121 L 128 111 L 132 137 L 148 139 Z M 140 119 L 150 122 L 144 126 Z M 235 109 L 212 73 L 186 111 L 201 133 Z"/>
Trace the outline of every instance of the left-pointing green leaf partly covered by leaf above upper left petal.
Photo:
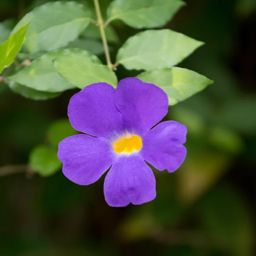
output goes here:
<path id="1" fill-rule="evenodd" d="M 34 90 L 59 93 L 72 89 L 73 85 L 60 76 L 54 67 L 53 60 L 61 55 L 69 55 L 71 52 L 82 54 L 81 49 L 59 49 L 48 52 L 32 61 L 32 63 L 20 70 L 8 79 Z"/>

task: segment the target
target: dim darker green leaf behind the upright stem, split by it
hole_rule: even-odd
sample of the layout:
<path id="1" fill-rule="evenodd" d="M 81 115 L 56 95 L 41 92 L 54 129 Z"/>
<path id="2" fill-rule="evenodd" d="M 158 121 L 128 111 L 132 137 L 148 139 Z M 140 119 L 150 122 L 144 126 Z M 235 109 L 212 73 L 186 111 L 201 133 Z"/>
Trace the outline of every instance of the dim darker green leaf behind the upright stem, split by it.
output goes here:
<path id="1" fill-rule="evenodd" d="M 118 43 L 119 38 L 116 34 L 116 31 L 111 27 L 111 25 L 105 26 L 104 28 L 107 41 L 109 43 Z M 81 33 L 83 37 L 91 37 L 91 38 L 99 38 L 101 39 L 101 35 L 99 32 L 99 26 L 96 26 L 93 23 L 90 23 L 89 26 Z"/>

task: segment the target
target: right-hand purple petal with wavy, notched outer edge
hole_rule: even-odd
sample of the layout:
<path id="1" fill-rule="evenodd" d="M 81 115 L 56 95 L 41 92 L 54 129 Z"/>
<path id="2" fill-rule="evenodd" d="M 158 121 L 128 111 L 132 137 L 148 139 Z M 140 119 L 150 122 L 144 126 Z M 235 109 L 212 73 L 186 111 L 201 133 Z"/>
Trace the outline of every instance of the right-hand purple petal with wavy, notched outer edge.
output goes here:
<path id="1" fill-rule="evenodd" d="M 160 171 L 176 171 L 186 157 L 187 128 L 175 121 L 162 122 L 143 137 L 142 156 Z"/>

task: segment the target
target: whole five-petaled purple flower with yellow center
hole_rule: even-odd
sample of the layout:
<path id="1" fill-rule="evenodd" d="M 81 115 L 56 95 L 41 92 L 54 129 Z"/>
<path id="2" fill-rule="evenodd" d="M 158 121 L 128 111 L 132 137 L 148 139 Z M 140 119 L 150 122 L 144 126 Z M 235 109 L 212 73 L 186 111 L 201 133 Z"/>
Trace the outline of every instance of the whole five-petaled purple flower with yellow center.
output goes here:
<path id="1" fill-rule="evenodd" d="M 104 182 L 110 206 L 153 200 L 156 180 L 145 161 L 174 172 L 186 157 L 185 125 L 166 121 L 152 128 L 167 112 L 166 93 L 137 78 L 121 80 L 117 89 L 106 83 L 85 87 L 68 105 L 71 125 L 84 134 L 59 144 L 64 175 L 89 185 L 110 168 Z"/>

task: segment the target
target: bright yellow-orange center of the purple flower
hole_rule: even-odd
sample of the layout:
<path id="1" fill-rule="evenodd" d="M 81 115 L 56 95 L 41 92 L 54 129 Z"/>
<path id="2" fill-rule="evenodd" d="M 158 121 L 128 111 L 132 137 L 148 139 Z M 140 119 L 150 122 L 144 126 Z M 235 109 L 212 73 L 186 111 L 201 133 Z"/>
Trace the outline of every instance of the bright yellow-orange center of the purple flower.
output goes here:
<path id="1" fill-rule="evenodd" d="M 126 134 L 125 137 L 119 138 L 113 142 L 113 149 L 118 154 L 131 154 L 142 148 L 142 140 L 140 136 Z"/>

